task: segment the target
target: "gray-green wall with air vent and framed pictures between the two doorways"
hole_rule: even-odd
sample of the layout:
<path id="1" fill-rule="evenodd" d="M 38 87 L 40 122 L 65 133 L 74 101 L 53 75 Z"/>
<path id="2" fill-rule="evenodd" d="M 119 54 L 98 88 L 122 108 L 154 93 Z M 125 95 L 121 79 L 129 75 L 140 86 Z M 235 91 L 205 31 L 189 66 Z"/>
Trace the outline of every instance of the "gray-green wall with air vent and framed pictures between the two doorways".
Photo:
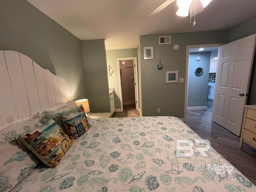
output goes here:
<path id="1" fill-rule="evenodd" d="M 159 45 L 158 36 L 171 35 L 171 44 Z M 140 36 L 141 96 L 143 116 L 184 117 L 184 83 L 166 83 L 167 71 L 178 71 L 178 79 L 185 77 L 186 46 L 222 43 L 225 30 Z M 174 50 L 179 44 L 179 50 Z M 153 46 L 154 58 L 143 59 L 143 47 Z M 161 59 L 163 70 L 157 70 Z M 160 113 L 157 113 L 160 108 Z"/>

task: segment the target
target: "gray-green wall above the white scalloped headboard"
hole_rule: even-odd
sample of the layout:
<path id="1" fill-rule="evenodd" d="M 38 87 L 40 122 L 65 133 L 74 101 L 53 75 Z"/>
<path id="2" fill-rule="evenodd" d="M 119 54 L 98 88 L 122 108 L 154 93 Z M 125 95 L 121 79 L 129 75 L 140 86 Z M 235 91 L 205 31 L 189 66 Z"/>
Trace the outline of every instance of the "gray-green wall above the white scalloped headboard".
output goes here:
<path id="1" fill-rule="evenodd" d="M 0 50 L 21 52 L 64 78 L 68 100 L 87 97 L 78 38 L 26 0 L 1 0 L 0 14 Z"/>

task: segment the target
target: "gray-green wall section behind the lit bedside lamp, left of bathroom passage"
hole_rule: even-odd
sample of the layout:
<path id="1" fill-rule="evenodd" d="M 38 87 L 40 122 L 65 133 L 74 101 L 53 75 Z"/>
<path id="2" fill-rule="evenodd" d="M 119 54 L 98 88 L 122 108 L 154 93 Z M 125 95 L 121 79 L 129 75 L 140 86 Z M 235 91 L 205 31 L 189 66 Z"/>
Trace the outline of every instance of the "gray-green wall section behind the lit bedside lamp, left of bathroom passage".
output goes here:
<path id="1" fill-rule="evenodd" d="M 105 40 L 83 40 L 82 50 L 90 110 L 110 112 Z"/>

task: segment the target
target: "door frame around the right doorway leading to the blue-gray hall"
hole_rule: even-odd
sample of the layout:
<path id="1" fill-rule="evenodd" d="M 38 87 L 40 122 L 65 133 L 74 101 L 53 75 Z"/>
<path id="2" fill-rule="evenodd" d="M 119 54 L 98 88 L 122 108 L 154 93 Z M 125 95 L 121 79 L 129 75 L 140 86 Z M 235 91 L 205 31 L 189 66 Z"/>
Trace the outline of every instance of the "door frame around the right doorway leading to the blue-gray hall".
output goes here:
<path id="1" fill-rule="evenodd" d="M 186 110 L 188 106 L 188 61 L 189 61 L 189 49 L 201 48 L 201 47 L 220 47 L 225 43 L 215 44 L 201 44 L 201 45 L 188 45 L 186 47 L 186 70 L 185 70 L 185 97 L 184 97 L 184 122 L 186 122 Z"/>

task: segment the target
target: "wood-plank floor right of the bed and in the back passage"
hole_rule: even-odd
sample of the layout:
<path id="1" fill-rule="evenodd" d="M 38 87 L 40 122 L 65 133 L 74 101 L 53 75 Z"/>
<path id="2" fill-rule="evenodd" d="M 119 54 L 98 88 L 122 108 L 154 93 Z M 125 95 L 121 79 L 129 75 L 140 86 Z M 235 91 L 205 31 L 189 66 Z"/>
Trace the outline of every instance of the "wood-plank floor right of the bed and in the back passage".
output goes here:
<path id="1" fill-rule="evenodd" d="M 138 117 L 135 105 L 124 105 L 124 112 L 114 112 L 112 117 Z M 256 185 L 256 149 L 244 143 L 239 148 L 240 137 L 212 122 L 212 100 L 207 110 L 187 111 L 186 124 Z"/>

